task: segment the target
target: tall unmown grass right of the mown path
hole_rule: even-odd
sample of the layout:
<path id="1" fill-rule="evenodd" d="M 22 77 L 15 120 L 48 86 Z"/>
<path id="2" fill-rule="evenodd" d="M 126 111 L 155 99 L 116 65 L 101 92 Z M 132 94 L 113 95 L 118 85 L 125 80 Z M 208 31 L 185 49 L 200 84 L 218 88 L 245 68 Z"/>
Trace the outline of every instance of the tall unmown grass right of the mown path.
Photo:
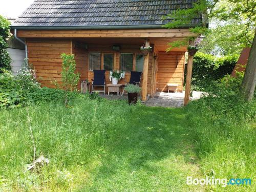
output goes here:
<path id="1" fill-rule="evenodd" d="M 186 110 L 204 177 L 252 180 L 251 186 L 208 186 L 208 189 L 255 191 L 255 100 L 244 103 L 235 96 L 205 97 L 191 102 Z"/>

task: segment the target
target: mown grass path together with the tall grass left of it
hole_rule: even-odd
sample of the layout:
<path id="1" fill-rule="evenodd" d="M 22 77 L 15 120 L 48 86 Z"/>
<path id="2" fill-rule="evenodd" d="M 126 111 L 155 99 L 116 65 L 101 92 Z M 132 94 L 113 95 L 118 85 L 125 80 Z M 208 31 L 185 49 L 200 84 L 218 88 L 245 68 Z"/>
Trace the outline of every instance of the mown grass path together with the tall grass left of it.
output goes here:
<path id="1" fill-rule="evenodd" d="M 187 191 L 199 177 L 183 109 L 80 99 L 0 112 L 0 188 L 4 190 Z M 36 156 L 50 163 L 26 172 Z M 190 188 L 189 188 L 190 187 Z"/>

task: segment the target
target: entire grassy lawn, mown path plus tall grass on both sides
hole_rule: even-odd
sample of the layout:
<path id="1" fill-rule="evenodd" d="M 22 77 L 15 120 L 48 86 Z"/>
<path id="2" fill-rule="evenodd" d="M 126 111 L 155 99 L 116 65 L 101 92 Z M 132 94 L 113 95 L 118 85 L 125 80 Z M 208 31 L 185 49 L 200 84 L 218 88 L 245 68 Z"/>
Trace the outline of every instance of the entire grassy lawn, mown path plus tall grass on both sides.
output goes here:
<path id="1" fill-rule="evenodd" d="M 255 189 L 186 185 L 187 176 L 253 182 L 255 119 L 232 123 L 203 100 L 167 109 L 79 97 L 72 106 L 50 102 L 0 111 L 0 191 Z M 33 161 L 29 126 L 36 157 L 50 160 L 34 172 L 24 172 Z"/>

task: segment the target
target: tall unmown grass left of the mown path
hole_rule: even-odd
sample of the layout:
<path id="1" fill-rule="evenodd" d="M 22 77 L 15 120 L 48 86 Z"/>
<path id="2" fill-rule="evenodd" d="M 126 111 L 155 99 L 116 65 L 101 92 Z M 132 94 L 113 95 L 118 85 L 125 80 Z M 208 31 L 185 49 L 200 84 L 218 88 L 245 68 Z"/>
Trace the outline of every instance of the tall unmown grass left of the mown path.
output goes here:
<path id="1" fill-rule="evenodd" d="M 7 185 L 6 190 L 43 190 L 44 186 L 66 190 L 72 188 L 74 179 L 78 180 L 76 183 L 84 182 L 86 176 L 82 175 L 89 169 L 85 166 L 118 138 L 116 128 L 125 122 L 124 114 L 130 110 L 133 107 L 127 107 L 123 101 L 78 98 L 72 108 L 52 102 L 1 111 L 0 186 Z M 29 126 L 36 143 L 36 157 L 44 155 L 50 159 L 39 174 L 24 172 L 33 161 L 34 152 Z M 81 178 L 73 177 L 67 167 L 74 167 L 70 170 L 80 173 Z"/>

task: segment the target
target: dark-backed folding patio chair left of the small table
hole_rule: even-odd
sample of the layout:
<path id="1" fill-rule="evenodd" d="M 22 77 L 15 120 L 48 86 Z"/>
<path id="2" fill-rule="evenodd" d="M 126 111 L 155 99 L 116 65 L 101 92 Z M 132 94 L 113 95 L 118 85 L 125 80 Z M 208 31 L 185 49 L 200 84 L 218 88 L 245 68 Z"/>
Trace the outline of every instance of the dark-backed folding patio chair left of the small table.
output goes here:
<path id="1" fill-rule="evenodd" d="M 105 70 L 93 70 L 93 79 L 92 79 L 92 93 L 93 92 L 103 92 L 105 95 Z M 94 86 L 102 86 L 104 90 L 94 90 Z"/>

